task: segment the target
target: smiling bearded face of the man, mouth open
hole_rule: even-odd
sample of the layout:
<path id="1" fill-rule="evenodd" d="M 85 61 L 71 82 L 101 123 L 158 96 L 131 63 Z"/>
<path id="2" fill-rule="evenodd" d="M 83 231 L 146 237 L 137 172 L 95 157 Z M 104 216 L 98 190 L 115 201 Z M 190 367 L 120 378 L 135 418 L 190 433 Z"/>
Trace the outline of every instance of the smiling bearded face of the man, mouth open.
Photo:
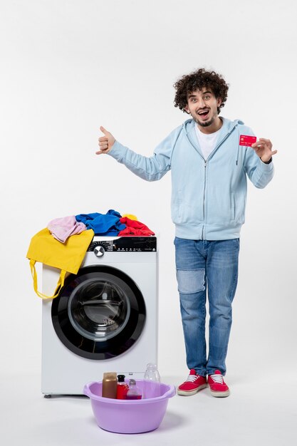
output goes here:
<path id="1" fill-rule="evenodd" d="M 214 133 L 222 127 L 217 111 L 221 103 L 222 100 L 215 97 L 211 88 L 203 87 L 188 94 L 184 110 L 192 115 L 203 133 Z"/>

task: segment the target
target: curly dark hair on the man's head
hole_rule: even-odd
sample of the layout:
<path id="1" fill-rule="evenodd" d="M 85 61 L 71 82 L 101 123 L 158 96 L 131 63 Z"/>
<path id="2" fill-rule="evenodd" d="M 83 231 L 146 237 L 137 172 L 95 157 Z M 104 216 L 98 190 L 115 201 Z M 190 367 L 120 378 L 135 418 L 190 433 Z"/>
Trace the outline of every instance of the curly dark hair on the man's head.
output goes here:
<path id="1" fill-rule="evenodd" d="M 225 105 L 229 90 L 229 86 L 222 75 L 215 73 L 215 71 L 206 71 L 204 68 L 185 74 L 173 86 L 177 90 L 174 96 L 174 107 L 178 107 L 184 112 L 189 93 L 207 87 L 212 89 L 216 98 L 222 100 L 222 104 L 217 109 L 219 114 L 221 108 Z"/>

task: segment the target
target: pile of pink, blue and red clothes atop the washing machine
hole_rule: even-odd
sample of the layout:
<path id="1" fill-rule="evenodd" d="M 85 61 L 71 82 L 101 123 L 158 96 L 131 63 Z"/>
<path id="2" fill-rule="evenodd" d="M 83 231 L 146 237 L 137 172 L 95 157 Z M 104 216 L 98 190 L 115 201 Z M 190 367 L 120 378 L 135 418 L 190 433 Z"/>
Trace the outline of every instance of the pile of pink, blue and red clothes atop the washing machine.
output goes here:
<path id="1" fill-rule="evenodd" d="M 53 237 L 65 243 L 68 237 L 93 229 L 95 235 L 101 236 L 142 236 L 155 235 L 144 223 L 132 214 L 124 214 L 110 209 L 106 214 L 79 214 L 61 217 L 48 223 L 48 230 Z"/>

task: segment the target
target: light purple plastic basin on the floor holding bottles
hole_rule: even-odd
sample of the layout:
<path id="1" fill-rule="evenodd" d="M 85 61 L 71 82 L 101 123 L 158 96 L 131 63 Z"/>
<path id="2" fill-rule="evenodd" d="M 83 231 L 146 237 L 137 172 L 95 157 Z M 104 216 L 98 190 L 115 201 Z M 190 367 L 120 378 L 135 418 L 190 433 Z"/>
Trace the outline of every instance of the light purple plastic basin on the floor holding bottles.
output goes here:
<path id="1" fill-rule="evenodd" d="M 143 380 L 136 380 L 142 389 Z M 102 382 L 88 383 L 83 393 L 90 398 L 93 413 L 99 427 L 110 432 L 136 434 L 149 432 L 160 426 L 168 404 L 175 395 L 173 385 L 161 383 L 160 396 L 142 400 L 115 400 L 103 398 Z"/>

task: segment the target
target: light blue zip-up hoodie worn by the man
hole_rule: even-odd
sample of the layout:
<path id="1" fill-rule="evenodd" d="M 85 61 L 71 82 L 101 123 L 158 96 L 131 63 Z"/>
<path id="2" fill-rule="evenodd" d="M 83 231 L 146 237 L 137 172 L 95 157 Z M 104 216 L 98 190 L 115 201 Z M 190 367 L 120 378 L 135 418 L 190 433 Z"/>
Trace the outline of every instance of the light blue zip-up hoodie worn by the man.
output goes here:
<path id="1" fill-rule="evenodd" d="M 217 146 L 204 160 L 194 120 L 185 121 L 155 149 L 138 155 L 115 141 L 108 154 L 147 181 L 172 172 L 172 221 L 177 237 L 226 240 L 239 237 L 246 207 L 246 175 L 256 187 L 273 177 L 273 162 L 260 160 L 251 147 L 239 145 L 239 135 L 254 133 L 240 120 L 222 118 Z"/>

